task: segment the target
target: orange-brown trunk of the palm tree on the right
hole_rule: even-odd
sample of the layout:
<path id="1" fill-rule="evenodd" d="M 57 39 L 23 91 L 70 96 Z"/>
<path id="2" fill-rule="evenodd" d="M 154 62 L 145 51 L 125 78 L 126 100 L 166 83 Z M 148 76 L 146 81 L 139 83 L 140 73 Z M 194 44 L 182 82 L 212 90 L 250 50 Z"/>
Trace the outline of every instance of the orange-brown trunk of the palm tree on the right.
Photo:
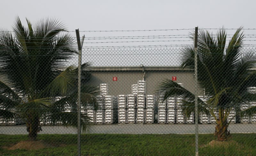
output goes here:
<path id="1" fill-rule="evenodd" d="M 228 122 L 226 117 L 224 117 L 223 110 L 219 110 L 219 119 L 216 122 L 215 136 L 217 136 L 217 140 L 226 141 L 230 132 L 228 131 Z"/>

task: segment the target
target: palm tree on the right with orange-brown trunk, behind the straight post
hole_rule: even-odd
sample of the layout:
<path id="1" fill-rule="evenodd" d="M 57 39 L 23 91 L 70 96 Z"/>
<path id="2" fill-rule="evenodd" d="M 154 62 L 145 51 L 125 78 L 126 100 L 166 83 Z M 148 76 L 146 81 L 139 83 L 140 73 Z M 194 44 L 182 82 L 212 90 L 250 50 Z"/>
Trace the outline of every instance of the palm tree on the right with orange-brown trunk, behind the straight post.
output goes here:
<path id="1" fill-rule="evenodd" d="M 250 106 L 256 101 L 250 87 L 256 86 L 256 72 L 251 69 L 256 65 L 256 55 L 252 51 L 243 51 L 244 35 L 239 28 L 226 46 L 227 34 L 225 29 L 220 29 L 216 35 L 208 31 L 198 32 L 198 85 L 204 89 L 206 102 L 198 98 L 198 109 L 206 109 L 216 120 L 215 136 L 218 141 L 224 141 L 230 134 L 228 125 L 235 117 L 229 117 L 230 112 L 236 110 L 236 115 L 252 116 L 255 107 L 241 112 L 243 106 Z M 182 49 L 181 67 L 194 71 L 195 52 L 193 47 Z M 195 96 L 178 83 L 165 80 L 158 85 L 158 93 L 163 99 L 172 96 L 184 98 L 181 103 L 183 113 L 187 117 L 195 111 Z M 252 111 L 254 109 L 254 111 Z M 217 113 L 216 113 L 217 112 Z"/>

